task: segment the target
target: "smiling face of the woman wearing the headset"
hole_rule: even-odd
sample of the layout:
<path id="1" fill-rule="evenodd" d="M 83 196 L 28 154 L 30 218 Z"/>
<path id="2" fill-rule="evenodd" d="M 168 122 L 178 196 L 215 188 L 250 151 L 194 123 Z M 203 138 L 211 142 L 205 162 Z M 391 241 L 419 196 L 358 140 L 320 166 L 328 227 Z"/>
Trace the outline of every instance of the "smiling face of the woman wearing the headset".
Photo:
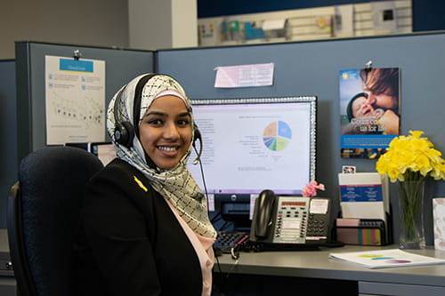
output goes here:
<path id="1" fill-rule="evenodd" d="M 153 100 L 142 118 L 139 136 L 158 168 L 174 168 L 191 142 L 191 116 L 183 100 L 173 95 Z"/>

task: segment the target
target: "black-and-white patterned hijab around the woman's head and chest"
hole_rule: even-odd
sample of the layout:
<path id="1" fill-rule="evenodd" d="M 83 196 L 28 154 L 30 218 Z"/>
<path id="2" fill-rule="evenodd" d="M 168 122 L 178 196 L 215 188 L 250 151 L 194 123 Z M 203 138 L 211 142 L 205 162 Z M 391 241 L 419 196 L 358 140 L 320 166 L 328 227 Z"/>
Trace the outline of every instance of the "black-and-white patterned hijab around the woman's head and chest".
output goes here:
<path id="1" fill-rule="evenodd" d="M 145 84 L 141 85 L 140 82 L 146 80 L 147 77 L 147 74 L 135 77 L 130 83 L 124 85 L 109 102 L 107 131 L 116 147 L 117 156 L 140 170 L 148 180 L 150 180 L 151 187 L 173 204 L 182 219 L 193 231 L 201 236 L 215 237 L 216 232 L 208 219 L 206 197 L 198 188 L 196 181 L 191 176 L 186 165 L 187 159 L 190 156 L 193 140 L 190 142 L 188 153 L 182 157 L 173 169 L 169 170 L 161 170 L 156 167 L 156 164 L 152 162 L 142 148 L 142 143 L 139 140 L 139 124 L 147 109 L 150 108 L 153 100 L 156 100 L 161 92 L 166 93 L 166 91 L 169 91 L 167 92 L 169 94 L 177 93 L 176 96 L 184 101 L 186 108 L 190 111 L 190 116 L 192 116 L 192 131 L 194 129 L 191 103 L 182 86 L 175 81 L 174 78 L 165 75 L 151 76 Z M 138 83 L 140 84 L 138 85 Z M 142 86 L 142 90 L 137 90 L 137 86 Z M 115 111 L 115 101 L 119 93 L 120 104 L 117 104 L 116 108 L 118 108 L 118 110 Z M 136 96 L 140 94 L 141 97 L 135 98 L 135 94 Z M 141 100 L 140 108 L 137 107 L 138 99 Z M 135 108 L 134 101 L 136 101 Z M 115 118 L 116 114 L 118 118 Z M 135 136 L 133 145 L 129 148 L 117 143 L 115 138 L 115 123 L 117 119 L 126 121 L 134 127 Z"/>

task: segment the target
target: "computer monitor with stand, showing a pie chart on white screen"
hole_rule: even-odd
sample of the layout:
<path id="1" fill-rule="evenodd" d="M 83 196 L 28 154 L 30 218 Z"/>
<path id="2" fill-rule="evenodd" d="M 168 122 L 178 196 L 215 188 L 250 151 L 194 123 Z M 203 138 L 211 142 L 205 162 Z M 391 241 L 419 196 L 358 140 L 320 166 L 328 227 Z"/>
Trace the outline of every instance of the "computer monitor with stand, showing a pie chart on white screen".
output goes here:
<path id="1" fill-rule="evenodd" d="M 192 164 L 196 152 L 188 166 L 224 219 L 249 227 L 263 189 L 299 196 L 315 180 L 316 103 L 314 96 L 192 100 L 203 173 Z"/>

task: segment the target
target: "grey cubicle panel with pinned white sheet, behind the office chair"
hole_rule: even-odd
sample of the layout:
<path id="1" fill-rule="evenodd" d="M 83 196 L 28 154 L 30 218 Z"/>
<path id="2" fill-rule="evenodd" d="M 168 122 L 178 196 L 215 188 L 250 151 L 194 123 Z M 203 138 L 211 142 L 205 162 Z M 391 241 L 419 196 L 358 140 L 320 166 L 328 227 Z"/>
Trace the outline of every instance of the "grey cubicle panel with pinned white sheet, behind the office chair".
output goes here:
<path id="1" fill-rule="evenodd" d="M 69 44 L 16 42 L 19 160 L 46 145 L 44 57 L 46 55 L 105 61 L 106 106 L 117 90 L 134 76 L 154 71 L 154 52 Z M 103 131 L 106 134 L 106 131 Z M 108 135 L 106 135 L 106 139 Z"/>

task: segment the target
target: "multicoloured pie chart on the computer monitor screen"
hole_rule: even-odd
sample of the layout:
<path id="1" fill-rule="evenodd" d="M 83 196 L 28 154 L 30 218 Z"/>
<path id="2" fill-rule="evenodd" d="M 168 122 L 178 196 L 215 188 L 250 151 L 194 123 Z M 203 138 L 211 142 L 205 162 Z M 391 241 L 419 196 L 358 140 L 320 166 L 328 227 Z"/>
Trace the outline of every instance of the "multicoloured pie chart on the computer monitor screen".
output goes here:
<path id="1" fill-rule="evenodd" d="M 266 126 L 263 132 L 264 145 L 272 151 L 287 148 L 292 140 L 292 130 L 284 121 L 275 121 Z"/>

